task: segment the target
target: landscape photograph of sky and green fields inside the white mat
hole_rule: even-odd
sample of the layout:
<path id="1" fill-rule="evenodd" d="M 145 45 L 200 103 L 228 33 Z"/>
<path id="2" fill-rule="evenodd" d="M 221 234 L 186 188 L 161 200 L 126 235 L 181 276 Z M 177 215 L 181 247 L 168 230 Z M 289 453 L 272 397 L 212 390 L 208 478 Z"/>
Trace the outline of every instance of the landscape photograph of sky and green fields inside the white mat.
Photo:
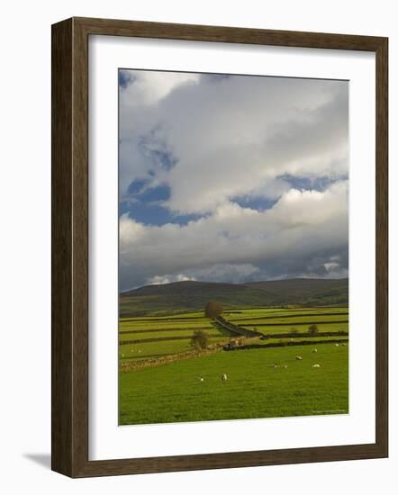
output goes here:
<path id="1" fill-rule="evenodd" d="M 348 89 L 119 69 L 120 425 L 348 414 Z"/>

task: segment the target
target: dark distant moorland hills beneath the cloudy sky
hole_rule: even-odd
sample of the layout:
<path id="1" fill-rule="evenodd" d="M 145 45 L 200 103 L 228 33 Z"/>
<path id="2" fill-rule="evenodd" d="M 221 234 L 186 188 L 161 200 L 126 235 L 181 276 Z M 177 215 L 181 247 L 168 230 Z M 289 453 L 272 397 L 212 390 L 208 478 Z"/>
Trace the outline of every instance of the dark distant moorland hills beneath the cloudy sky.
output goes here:
<path id="1" fill-rule="evenodd" d="M 145 285 L 120 294 L 120 314 L 139 316 L 200 311 L 209 301 L 224 308 L 348 304 L 348 278 L 294 278 L 246 284 L 174 282 Z"/>

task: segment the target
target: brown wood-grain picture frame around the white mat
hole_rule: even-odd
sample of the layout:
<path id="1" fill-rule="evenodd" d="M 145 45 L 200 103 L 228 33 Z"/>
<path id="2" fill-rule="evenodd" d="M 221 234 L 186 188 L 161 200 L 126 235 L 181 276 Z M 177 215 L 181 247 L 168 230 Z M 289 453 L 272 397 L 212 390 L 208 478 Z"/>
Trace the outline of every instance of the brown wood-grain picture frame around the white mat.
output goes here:
<path id="1" fill-rule="evenodd" d="M 88 37 L 201 40 L 375 52 L 375 444 L 88 460 Z M 52 26 L 52 469 L 86 477 L 388 455 L 388 39 L 71 18 Z"/>

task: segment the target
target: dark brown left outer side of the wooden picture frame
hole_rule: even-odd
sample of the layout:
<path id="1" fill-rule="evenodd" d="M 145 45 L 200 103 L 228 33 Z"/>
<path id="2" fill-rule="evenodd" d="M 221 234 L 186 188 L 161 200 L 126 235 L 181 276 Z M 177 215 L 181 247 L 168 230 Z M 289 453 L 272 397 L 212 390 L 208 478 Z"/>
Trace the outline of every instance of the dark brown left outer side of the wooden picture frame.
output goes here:
<path id="1" fill-rule="evenodd" d="M 72 21 L 52 29 L 51 466 L 71 473 Z"/>

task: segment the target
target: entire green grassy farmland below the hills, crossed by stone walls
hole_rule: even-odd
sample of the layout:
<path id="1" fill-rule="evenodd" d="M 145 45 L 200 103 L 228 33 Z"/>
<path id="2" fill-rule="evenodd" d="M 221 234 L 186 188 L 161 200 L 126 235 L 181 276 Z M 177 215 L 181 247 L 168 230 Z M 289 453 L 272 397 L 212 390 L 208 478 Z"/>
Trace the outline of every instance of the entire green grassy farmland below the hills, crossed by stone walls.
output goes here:
<path id="1" fill-rule="evenodd" d="M 120 424 L 348 413 L 347 306 L 222 317 L 257 335 L 226 350 L 237 335 L 204 311 L 120 319 Z M 192 347 L 195 330 L 208 336 L 205 351 Z"/>

